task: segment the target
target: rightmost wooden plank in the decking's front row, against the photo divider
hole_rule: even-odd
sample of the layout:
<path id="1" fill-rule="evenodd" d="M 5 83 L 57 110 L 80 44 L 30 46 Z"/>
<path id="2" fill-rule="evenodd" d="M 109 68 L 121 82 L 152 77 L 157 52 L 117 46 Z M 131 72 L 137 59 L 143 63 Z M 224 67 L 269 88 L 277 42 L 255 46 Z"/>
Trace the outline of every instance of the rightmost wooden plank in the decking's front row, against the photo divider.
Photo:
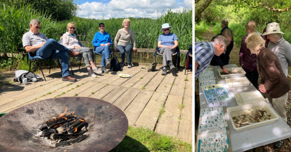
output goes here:
<path id="1" fill-rule="evenodd" d="M 185 97 L 184 98 L 184 109 L 182 110 L 181 124 L 179 128 L 178 137 L 188 143 L 194 144 L 193 135 L 194 135 L 194 111 L 193 111 L 193 98 Z"/>

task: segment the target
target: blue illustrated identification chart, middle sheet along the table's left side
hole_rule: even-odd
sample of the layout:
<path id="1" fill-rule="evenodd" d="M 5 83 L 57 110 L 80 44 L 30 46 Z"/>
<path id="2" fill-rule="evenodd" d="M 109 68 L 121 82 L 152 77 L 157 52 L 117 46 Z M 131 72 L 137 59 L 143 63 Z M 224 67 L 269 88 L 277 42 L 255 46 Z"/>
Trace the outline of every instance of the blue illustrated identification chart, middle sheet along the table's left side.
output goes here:
<path id="1" fill-rule="evenodd" d="M 217 103 L 231 99 L 231 96 L 222 84 L 202 86 L 207 104 Z"/>

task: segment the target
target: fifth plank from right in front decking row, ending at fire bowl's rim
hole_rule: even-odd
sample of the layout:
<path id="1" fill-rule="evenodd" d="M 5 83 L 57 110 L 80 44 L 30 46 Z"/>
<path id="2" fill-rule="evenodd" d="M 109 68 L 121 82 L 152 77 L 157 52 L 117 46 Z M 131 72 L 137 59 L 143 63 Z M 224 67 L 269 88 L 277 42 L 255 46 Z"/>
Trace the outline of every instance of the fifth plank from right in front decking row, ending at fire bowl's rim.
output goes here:
<path id="1" fill-rule="evenodd" d="M 140 89 L 130 88 L 121 97 L 119 97 L 113 105 L 124 111 L 140 92 Z"/>

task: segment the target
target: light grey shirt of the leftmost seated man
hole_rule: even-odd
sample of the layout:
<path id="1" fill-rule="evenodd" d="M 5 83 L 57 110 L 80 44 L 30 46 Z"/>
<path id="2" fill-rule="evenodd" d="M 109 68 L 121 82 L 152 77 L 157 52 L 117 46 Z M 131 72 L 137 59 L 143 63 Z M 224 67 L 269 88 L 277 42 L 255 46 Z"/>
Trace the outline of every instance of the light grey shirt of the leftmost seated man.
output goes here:
<path id="1" fill-rule="evenodd" d="M 48 41 L 48 38 L 46 37 L 46 35 L 42 33 L 34 34 L 31 31 L 25 33 L 22 38 L 23 47 L 38 46 L 42 42 L 47 42 L 47 41 Z"/>

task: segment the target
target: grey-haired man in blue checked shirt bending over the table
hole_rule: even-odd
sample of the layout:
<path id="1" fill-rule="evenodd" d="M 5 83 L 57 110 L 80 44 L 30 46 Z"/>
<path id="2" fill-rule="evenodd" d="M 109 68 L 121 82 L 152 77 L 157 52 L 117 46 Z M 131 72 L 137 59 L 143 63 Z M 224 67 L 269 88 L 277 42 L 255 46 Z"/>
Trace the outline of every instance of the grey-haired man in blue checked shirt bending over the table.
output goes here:
<path id="1" fill-rule="evenodd" d="M 226 49 L 228 40 L 219 35 L 212 39 L 212 42 L 194 42 L 194 78 L 202 73 L 209 65 L 214 55 L 220 56 Z M 194 88 L 196 83 L 194 83 Z M 196 92 L 194 90 L 194 96 Z M 196 96 L 194 97 L 194 114 L 196 113 Z"/>

